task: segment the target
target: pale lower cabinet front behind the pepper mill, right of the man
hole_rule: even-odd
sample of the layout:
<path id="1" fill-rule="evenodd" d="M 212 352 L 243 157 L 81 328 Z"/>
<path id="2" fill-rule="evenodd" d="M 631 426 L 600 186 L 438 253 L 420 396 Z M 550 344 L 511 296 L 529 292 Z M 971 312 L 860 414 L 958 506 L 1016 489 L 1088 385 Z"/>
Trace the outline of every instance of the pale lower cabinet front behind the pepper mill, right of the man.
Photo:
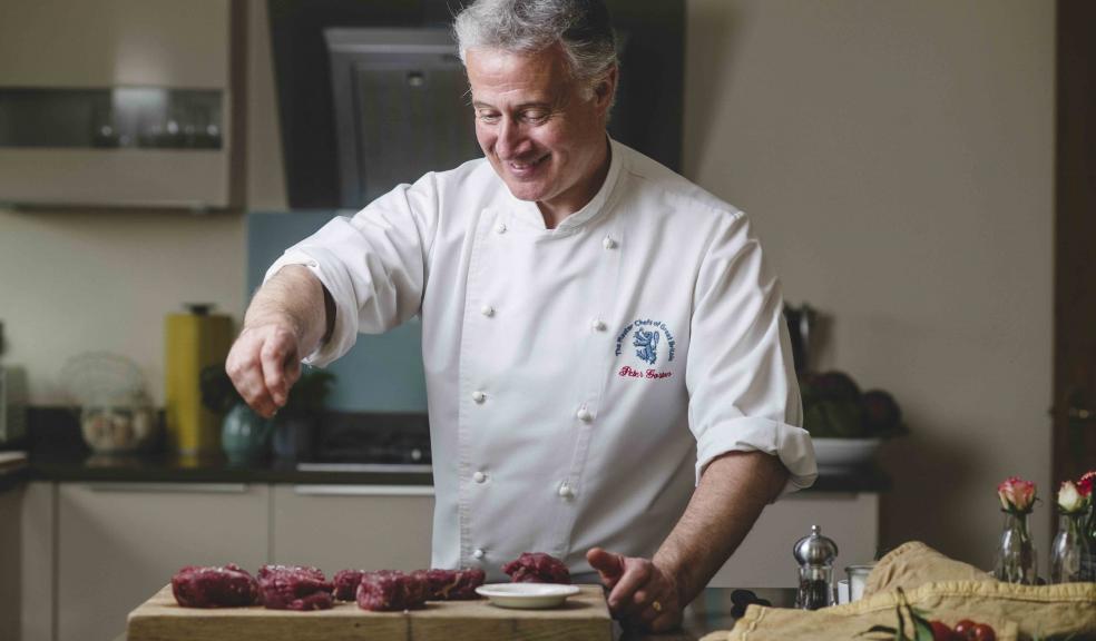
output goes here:
<path id="1" fill-rule="evenodd" d="M 847 565 L 868 563 L 879 546 L 879 494 L 797 492 L 767 506 L 731 560 L 715 574 L 713 588 L 795 588 L 795 542 L 811 525 L 838 544 L 834 584 Z"/>

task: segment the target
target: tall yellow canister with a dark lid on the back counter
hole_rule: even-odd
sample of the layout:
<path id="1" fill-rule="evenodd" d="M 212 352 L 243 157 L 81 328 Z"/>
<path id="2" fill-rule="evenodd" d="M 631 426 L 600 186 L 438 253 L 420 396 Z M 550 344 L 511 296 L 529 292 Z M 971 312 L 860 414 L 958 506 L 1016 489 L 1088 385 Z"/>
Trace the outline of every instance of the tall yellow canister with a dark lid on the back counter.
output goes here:
<path id="1" fill-rule="evenodd" d="M 183 454 L 221 448 L 221 421 L 202 404 L 202 369 L 224 366 L 232 346 L 232 318 L 209 314 L 213 305 L 187 305 L 164 323 L 165 418 L 168 444 Z"/>

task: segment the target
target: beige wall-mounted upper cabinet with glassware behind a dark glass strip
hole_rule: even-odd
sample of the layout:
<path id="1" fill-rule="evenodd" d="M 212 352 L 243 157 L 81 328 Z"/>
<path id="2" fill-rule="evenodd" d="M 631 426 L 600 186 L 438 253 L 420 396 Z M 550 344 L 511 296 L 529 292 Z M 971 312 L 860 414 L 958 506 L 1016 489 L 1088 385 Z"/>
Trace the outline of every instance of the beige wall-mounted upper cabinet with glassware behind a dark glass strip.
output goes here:
<path id="1" fill-rule="evenodd" d="M 0 2 L 0 203 L 238 204 L 236 2 Z"/>

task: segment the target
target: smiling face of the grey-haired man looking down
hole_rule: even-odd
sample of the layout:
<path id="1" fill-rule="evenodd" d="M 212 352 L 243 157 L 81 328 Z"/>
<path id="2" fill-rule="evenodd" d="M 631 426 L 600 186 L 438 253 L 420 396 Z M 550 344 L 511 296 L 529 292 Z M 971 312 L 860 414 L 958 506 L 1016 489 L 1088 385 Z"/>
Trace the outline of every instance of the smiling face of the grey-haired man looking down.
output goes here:
<path id="1" fill-rule="evenodd" d="M 559 47 L 539 53 L 470 49 L 464 61 L 476 138 L 510 193 L 536 201 L 546 216 L 580 209 L 607 169 L 605 115 L 615 72 L 585 90 Z"/>

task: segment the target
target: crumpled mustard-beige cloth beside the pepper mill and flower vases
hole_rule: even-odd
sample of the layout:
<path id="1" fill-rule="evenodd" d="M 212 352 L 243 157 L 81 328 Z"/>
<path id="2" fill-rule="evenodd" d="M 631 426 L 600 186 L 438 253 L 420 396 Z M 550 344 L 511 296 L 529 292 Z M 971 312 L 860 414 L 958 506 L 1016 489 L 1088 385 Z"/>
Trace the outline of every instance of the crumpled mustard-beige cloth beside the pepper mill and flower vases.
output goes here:
<path id="1" fill-rule="evenodd" d="M 899 586 L 911 605 L 927 611 L 927 619 L 948 625 L 961 619 L 988 623 L 1001 641 L 1059 634 L 1075 634 L 1074 641 L 1096 639 L 1096 583 L 1000 583 L 972 565 L 910 542 L 875 564 L 864 598 L 855 603 L 815 611 L 751 605 L 734 630 L 713 632 L 702 641 L 854 639 L 872 625 L 897 625 Z"/>

